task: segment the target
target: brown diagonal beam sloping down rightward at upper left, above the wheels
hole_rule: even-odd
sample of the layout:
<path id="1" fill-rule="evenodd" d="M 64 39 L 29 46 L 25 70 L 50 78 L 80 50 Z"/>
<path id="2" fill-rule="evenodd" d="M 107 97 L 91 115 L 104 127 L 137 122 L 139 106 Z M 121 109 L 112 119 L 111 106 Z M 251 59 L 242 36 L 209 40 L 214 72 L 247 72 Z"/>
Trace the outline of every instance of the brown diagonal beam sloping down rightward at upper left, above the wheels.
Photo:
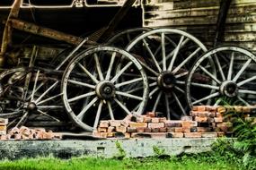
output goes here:
<path id="1" fill-rule="evenodd" d="M 84 40 L 84 38 L 79 38 L 74 35 L 66 34 L 61 31 L 41 27 L 37 24 L 31 23 L 28 21 L 10 19 L 9 22 L 13 29 L 30 32 L 31 34 L 43 36 L 45 38 L 52 38 L 52 39 L 56 39 L 59 41 L 64 41 L 68 44 L 75 45 L 75 46 L 79 45 Z M 95 45 L 96 43 L 88 40 L 88 41 L 86 41 L 86 44 L 87 45 Z"/>

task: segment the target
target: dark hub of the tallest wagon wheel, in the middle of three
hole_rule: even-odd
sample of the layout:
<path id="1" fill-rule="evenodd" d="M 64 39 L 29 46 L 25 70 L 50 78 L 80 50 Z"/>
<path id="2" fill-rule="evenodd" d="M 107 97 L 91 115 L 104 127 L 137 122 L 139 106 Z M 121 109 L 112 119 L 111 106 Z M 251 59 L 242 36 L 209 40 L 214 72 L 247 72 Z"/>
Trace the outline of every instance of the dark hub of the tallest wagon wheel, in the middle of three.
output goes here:
<path id="1" fill-rule="evenodd" d="M 176 78 L 172 72 L 161 72 L 157 78 L 157 83 L 162 89 L 172 89 L 176 84 Z"/>

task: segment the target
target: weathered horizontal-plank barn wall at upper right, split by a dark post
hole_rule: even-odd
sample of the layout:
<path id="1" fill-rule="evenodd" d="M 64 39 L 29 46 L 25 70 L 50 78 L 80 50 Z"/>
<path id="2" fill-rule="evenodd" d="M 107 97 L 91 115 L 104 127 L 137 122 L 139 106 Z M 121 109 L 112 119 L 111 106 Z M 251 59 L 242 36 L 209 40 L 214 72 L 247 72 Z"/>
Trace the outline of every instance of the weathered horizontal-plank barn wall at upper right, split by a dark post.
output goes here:
<path id="1" fill-rule="evenodd" d="M 144 26 L 186 30 L 212 46 L 220 0 L 145 0 L 143 4 Z M 256 52 L 256 0 L 232 1 L 223 44 Z"/>

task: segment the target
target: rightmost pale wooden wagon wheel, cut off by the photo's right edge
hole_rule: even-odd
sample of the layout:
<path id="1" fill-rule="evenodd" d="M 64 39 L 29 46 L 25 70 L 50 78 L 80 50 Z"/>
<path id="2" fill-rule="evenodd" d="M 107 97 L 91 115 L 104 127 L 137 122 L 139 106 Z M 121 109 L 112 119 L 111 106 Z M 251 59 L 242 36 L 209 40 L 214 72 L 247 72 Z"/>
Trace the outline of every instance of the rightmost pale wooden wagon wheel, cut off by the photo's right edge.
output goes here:
<path id="1" fill-rule="evenodd" d="M 255 105 L 255 63 L 256 56 L 241 47 L 216 47 L 208 51 L 188 75 L 189 105 Z"/>

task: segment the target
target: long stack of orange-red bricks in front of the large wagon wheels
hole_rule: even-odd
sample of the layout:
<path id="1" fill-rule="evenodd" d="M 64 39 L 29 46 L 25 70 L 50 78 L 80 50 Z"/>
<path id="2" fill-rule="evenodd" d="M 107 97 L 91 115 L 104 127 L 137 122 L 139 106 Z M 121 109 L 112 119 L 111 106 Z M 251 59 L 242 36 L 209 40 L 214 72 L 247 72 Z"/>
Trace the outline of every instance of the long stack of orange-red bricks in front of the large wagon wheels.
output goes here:
<path id="1" fill-rule="evenodd" d="M 243 113 L 245 117 L 256 111 L 256 106 L 194 106 L 190 116 L 181 120 L 166 120 L 146 115 L 128 116 L 124 120 L 101 121 L 93 135 L 101 138 L 216 138 L 231 136 L 232 117 L 226 113 Z"/>

